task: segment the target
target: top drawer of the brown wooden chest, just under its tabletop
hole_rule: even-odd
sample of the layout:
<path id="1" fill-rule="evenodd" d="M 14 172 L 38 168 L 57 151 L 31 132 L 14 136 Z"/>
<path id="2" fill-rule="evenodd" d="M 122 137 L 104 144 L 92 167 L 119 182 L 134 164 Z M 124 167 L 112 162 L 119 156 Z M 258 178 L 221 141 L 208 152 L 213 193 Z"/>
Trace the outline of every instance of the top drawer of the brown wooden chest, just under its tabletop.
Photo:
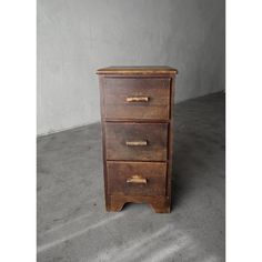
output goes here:
<path id="1" fill-rule="evenodd" d="M 104 78 L 105 119 L 170 118 L 169 78 Z"/>

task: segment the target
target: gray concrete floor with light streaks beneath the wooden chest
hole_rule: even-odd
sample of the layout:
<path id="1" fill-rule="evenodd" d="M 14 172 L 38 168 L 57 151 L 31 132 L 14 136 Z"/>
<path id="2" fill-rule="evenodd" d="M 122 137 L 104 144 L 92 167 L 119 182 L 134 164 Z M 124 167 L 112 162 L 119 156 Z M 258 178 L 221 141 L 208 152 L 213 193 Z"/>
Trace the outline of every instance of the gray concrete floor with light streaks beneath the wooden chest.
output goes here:
<path id="1" fill-rule="evenodd" d="M 173 210 L 107 213 L 100 124 L 38 139 L 38 262 L 224 261 L 224 94 L 175 105 Z"/>

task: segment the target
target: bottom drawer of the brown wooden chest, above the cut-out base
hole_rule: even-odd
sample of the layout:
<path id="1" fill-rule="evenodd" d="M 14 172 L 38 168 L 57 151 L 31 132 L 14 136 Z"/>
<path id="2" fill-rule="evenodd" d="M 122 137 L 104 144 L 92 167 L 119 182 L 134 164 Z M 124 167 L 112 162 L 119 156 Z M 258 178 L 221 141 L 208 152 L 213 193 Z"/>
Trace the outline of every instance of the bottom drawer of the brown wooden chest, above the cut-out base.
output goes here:
<path id="1" fill-rule="evenodd" d="M 165 163 L 107 162 L 108 193 L 165 195 Z"/>

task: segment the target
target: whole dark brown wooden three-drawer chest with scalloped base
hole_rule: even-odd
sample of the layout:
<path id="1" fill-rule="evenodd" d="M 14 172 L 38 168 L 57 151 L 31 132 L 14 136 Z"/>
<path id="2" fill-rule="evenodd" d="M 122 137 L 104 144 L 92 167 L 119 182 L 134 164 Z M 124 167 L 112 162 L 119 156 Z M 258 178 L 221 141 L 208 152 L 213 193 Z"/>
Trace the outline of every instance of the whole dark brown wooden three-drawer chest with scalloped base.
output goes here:
<path id="1" fill-rule="evenodd" d="M 97 73 L 107 210 L 147 202 L 157 213 L 170 212 L 178 71 L 169 67 L 110 67 Z"/>

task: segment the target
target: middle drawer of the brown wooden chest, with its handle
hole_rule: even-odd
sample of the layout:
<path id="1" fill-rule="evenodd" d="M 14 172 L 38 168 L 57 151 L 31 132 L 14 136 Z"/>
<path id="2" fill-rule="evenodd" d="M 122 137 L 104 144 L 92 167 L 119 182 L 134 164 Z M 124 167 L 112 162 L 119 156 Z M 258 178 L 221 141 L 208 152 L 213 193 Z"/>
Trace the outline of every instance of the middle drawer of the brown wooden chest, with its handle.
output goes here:
<path id="1" fill-rule="evenodd" d="M 168 123 L 105 122 L 107 160 L 165 161 Z"/>

